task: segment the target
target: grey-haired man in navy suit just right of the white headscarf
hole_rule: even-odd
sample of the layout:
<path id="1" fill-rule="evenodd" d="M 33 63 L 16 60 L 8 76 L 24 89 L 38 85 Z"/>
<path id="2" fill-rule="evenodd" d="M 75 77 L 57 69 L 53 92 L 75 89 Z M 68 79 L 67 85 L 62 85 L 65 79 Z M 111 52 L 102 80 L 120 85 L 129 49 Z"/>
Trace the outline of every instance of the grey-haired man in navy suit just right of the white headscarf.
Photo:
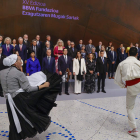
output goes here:
<path id="1" fill-rule="evenodd" d="M 25 64 L 27 63 L 27 47 L 26 47 L 26 45 L 23 44 L 22 37 L 18 38 L 18 42 L 19 42 L 19 44 L 16 45 L 15 51 L 18 51 L 19 56 L 23 60 L 23 71 L 26 72 Z"/>

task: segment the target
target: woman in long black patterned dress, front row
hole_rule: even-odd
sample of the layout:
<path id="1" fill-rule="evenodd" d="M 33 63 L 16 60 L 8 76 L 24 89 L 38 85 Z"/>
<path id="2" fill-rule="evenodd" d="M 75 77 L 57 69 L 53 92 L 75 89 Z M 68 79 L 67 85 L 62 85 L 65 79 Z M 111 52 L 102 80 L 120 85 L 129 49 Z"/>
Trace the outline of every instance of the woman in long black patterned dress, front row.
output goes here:
<path id="1" fill-rule="evenodd" d="M 85 91 L 87 93 L 92 93 L 95 91 L 95 69 L 96 62 L 94 55 L 90 53 L 88 55 L 88 60 L 86 61 L 87 73 L 86 73 L 86 82 L 85 82 Z"/>

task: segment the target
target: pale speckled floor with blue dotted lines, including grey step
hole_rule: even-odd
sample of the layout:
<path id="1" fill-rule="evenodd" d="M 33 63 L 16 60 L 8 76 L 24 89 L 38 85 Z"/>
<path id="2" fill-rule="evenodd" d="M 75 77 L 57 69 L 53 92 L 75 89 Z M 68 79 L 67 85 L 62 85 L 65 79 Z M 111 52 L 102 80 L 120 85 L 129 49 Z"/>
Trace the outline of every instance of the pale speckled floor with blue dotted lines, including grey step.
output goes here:
<path id="1" fill-rule="evenodd" d="M 58 96 L 57 108 L 51 111 L 52 123 L 47 131 L 26 140 L 134 140 L 129 136 L 126 89 L 120 89 L 114 80 L 106 80 L 107 93 Z M 0 140 L 8 140 L 9 122 L 6 105 L 0 99 Z M 135 106 L 140 130 L 140 95 Z M 137 138 L 140 139 L 140 138 Z"/>

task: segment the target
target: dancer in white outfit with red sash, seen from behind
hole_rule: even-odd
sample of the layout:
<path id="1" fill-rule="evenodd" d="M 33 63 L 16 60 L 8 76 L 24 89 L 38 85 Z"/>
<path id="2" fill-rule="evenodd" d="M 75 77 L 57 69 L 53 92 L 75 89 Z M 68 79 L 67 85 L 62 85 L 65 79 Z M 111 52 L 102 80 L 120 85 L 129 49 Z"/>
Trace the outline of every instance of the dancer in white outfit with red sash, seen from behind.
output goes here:
<path id="1" fill-rule="evenodd" d="M 115 74 L 115 83 L 122 88 L 127 88 L 126 109 L 128 123 L 132 128 L 131 131 L 128 131 L 128 134 L 135 137 L 138 137 L 138 131 L 133 109 L 136 96 L 140 93 L 140 61 L 137 60 L 137 55 L 137 48 L 130 48 L 129 57 L 118 65 Z"/>

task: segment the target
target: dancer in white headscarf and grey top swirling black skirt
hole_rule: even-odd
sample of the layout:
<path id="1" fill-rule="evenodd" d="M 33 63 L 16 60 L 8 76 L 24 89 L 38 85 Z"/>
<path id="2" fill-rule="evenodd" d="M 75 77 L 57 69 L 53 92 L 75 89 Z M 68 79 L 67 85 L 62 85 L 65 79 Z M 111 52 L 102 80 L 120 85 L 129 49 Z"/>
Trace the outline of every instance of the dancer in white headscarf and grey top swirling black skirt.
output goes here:
<path id="1" fill-rule="evenodd" d="M 46 82 L 43 72 L 26 77 L 20 71 L 21 58 L 16 54 L 5 58 L 3 64 L 9 66 L 0 71 L 10 121 L 9 140 L 32 138 L 49 127 L 51 118 L 48 114 L 56 106 L 54 102 L 61 80 L 57 74 L 47 74 Z"/>

